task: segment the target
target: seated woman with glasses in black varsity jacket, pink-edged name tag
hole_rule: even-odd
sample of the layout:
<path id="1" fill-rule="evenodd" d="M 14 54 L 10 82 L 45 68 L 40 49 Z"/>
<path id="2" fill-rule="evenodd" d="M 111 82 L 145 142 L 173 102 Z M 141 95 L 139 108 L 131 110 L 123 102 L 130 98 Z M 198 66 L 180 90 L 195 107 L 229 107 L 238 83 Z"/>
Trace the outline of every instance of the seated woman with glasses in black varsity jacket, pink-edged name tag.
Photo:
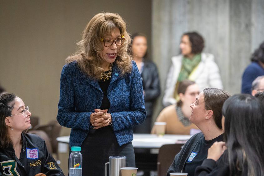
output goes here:
<path id="1" fill-rule="evenodd" d="M 31 113 L 21 98 L 0 95 L 0 175 L 64 175 L 45 141 L 26 133 Z"/>

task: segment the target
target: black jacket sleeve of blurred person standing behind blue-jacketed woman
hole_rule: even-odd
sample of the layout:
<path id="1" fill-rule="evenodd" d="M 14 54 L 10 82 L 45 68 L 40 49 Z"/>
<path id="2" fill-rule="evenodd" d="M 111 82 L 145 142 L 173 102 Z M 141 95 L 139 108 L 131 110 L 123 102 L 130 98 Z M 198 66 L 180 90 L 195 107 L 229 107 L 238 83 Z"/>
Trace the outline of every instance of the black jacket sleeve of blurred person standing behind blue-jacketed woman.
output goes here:
<path id="1" fill-rule="evenodd" d="M 159 74 L 156 65 L 153 63 L 152 65 L 152 73 L 147 73 L 152 76 L 152 83 L 150 87 L 145 91 L 144 99 L 145 101 L 152 101 L 155 100 L 160 95 L 160 80 Z"/>

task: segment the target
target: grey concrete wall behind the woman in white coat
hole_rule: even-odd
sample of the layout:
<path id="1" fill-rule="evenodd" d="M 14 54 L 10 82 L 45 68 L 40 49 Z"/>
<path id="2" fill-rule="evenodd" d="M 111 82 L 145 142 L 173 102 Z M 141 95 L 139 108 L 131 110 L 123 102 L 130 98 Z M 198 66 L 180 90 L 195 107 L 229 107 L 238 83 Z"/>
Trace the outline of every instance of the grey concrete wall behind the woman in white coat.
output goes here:
<path id="1" fill-rule="evenodd" d="M 205 38 L 204 52 L 215 55 L 224 89 L 240 93 L 250 55 L 264 40 L 263 28 L 263 0 L 152 0 L 152 51 L 154 62 L 162 66 L 162 93 L 171 57 L 179 54 L 182 33 L 187 31 Z"/>

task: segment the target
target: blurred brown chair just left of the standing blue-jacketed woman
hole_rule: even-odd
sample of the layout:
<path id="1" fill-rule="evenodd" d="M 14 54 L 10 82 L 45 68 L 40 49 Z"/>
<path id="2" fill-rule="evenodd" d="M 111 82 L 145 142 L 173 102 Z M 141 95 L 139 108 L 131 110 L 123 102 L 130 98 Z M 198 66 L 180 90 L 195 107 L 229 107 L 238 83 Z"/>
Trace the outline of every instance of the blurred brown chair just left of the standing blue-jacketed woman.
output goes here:
<path id="1" fill-rule="evenodd" d="M 43 130 L 47 133 L 51 141 L 52 151 L 56 154 L 57 160 L 59 160 L 58 153 L 58 141 L 57 137 L 60 136 L 62 126 L 58 123 L 57 120 L 50 121 L 47 125 L 37 125 L 34 127 L 34 130 Z"/>

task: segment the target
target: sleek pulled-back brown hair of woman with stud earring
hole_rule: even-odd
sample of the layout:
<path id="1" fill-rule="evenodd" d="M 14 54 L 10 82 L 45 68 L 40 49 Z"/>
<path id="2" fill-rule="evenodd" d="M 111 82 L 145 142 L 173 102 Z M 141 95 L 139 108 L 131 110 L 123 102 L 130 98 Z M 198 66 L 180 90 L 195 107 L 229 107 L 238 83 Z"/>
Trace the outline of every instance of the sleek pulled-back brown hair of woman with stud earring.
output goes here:
<path id="1" fill-rule="evenodd" d="M 204 105 L 206 110 L 213 111 L 213 118 L 218 128 L 222 129 L 222 106 L 230 93 L 219 88 L 203 89 Z"/>

